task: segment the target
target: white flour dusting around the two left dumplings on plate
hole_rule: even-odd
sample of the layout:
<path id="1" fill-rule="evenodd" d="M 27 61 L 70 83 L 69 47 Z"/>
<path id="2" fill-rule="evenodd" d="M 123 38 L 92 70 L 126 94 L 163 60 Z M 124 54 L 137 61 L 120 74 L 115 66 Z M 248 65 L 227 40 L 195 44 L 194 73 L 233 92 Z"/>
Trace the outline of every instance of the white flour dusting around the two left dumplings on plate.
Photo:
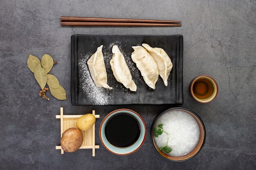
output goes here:
<path id="1" fill-rule="evenodd" d="M 132 74 L 132 79 L 135 82 L 135 84 L 138 84 L 138 82 L 142 82 L 143 79 L 141 79 L 141 75 L 139 70 L 136 67 L 136 64 L 132 62 L 131 56 L 128 56 L 128 51 L 126 48 L 124 48 L 121 45 L 121 42 L 111 42 L 109 46 L 103 46 L 102 53 L 104 57 L 104 63 L 106 66 L 106 71 L 108 75 L 108 84 L 113 87 L 112 90 L 106 89 L 103 87 L 96 87 L 92 77 L 90 75 L 90 71 L 87 65 L 88 59 L 92 56 L 92 54 L 95 51 L 90 51 L 87 54 L 81 54 L 80 59 L 78 61 L 79 66 L 79 87 L 83 91 L 83 95 L 87 96 L 88 99 L 93 102 L 95 105 L 108 105 L 109 100 L 112 99 L 112 96 L 114 94 L 117 95 L 115 92 L 115 89 L 119 89 L 119 91 L 122 91 L 122 95 L 129 97 L 129 98 L 135 98 L 137 95 L 135 92 L 130 91 L 129 89 L 125 88 L 123 84 L 117 82 L 115 79 L 113 72 L 111 70 L 110 66 L 110 60 L 112 58 L 112 47 L 114 45 L 117 45 L 120 49 L 121 53 L 124 55 L 124 58 L 126 60 L 126 63 L 130 69 L 130 72 Z"/>

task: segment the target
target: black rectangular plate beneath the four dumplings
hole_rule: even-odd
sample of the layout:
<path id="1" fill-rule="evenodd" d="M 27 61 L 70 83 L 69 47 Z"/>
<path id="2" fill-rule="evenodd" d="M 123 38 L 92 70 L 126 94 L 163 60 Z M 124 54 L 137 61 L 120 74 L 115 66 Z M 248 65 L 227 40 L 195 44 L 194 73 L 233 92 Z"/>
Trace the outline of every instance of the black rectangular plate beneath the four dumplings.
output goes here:
<path id="1" fill-rule="evenodd" d="M 173 68 L 168 77 L 168 86 L 162 78 L 156 88 L 144 82 L 136 64 L 131 60 L 132 46 L 143 43 L 164 49 L 171 58 Z M 108 85 L 112 90 L 97 88 L 90 77 L 87 60 L 99 46 L 103 45 L 103 56 L 108 74 Z M 117 82 L 111 67 L 112 46 L 118 45 L 130 68 L 137 91 L 132 92 Z M 183 36 L 182 35 L 72 35 L 71 36 L 71 101 L 72 105 L 126 105 L 126 104 L 183 104 Z"/>

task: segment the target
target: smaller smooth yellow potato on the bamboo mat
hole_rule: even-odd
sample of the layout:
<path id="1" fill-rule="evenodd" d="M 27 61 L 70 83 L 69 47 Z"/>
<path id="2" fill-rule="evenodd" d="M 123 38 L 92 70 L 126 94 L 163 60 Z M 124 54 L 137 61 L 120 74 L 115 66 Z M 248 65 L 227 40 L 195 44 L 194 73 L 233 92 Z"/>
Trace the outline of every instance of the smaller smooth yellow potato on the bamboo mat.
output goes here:
<path id="1" fill-rule="evenodd" d="M 86 114 L 81 117 L 79 117 L 76 121 L 76 126 L 80 130 L 88 130 L 94 125 L 95 123 L 95 117 L 92 114 Z"/>

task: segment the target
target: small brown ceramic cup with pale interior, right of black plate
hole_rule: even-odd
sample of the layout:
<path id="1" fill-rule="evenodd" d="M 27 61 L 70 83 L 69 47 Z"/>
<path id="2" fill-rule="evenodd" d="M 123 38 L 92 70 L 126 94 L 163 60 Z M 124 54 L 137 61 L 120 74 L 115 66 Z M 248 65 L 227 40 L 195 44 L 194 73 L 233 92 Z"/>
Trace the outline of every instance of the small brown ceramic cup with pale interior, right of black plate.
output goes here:
<path id="1" fill-rule="evenodd" d="M 195 82 L 197 82 L 198 80 L 200 79 L 207 79 L 211 82 L 211 84 L 213 85 L 213 93 L 210 97 L 208 97 L 207 99 L 200 99 L 199 97 L 197 97 L 193 91 L 193 86 L 195 84 Z M 191 95 L 192 97 L 200 102 L 200 103 L 209 103 L 211 101 L 213 101 L 213 99 L 216 98 L 217 94 L 218 94 L 218 84 L 217 82 L 215 81 L 215 79 L 213 79 L 213 77 L 209 76 L 209 75 L 200 75 L 198 77 L 196 77 L 195 79 L 193 79 L 193 81 L 191 82 L 191 85 L 190 85 L 190 92 L 191 92 Z"/>

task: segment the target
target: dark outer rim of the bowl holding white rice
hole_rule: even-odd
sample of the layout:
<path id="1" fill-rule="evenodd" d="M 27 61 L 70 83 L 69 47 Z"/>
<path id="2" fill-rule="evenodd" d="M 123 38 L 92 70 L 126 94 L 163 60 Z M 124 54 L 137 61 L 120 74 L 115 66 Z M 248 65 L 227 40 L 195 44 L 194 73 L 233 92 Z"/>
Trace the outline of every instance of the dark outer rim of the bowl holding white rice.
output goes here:
<path id="1" fill-rule="evenodd" d="M 184 162 L 184 161 L 188 161 L 189 159 L 192 159 L 193 157 L 195 157 L 195 155 L 193 155 L 192 157 L 188 158 L 188 159 L 184 159 L 184 160 L 181 160 L 181 161 L 175 161 L 175 160 L 172 160 L 172 159 L 167 159 L 166 157 L 162 156 L 158 151 L 157 149 L 155 148 L 154 146 L 154 143 L 153 143 L 153 128 L 155 126 L 155 123 L 157 122 L 157 120 L 162 116 L 164 115 L 165 113 L 167 113 L 168 111 L 170 110 L 176 110 L 176 109 L 179 109 L 179 110 L 186 110 L 186 111 L 189 111 L 190 113 L 192 113 L 193 115 L 195 115 L 199 121 L 201 122 L 202 124 L 202 127 L 203 127 L 203 130 L 204 130 L 204 140 L 203 140 L 203 143 L 202 143 L 202 146 L 200 147 L 200 149 L 198 150 L 198 152 L 195 153 L 195 155 L 198 155 L 198 153 L 202 150 L 203 146 L 204 146 L 204 143 L 205 143 L 205 139 L 206 139 L 206 130 L 205 130 L 205 126 L 204 126 L 204 123 L 202 121 L 202 119 L 193 111 L 193 110 L 190 110 L 188 108 L 184 108 L 184 107 L 173 107 L 173 108 L 168 108 L 167 110 L 165 110 L 164 112 L 160 113 L 159 115 L 157 115 L 154 119 L 154 122 L 151 126 L 151 130 L 150 130 L 150 141 L 151 141 L 151 144 L 155 150 L 155 152 L 157 152 L 158 155 L 160 155 L 162 158 L 168 160 L 168 161 L 172 161 L 172 162 Z"/>

